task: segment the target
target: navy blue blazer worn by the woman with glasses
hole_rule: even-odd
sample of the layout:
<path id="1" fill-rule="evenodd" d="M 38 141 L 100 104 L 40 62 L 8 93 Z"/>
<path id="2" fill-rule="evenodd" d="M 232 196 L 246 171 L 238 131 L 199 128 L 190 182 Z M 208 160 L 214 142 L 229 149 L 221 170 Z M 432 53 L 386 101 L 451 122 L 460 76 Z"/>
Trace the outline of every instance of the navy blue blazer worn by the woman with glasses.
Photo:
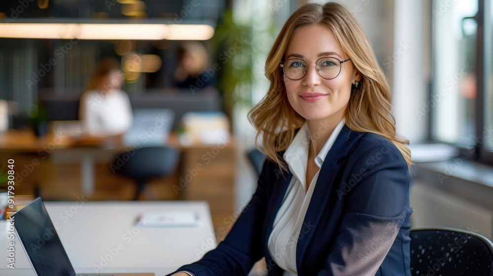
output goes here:
<path id="1" fill-rule="evenodd" d="M 292 174 L 271 161 L 223 242 L 177 271 L 247 275 L 265 256 L 269 276 L 283 270 L 267 241 Z M 323 161 L 296 247 L 298 276 L 410 276 L 410 177 L 386 138 L 341 130 Z M 172 275 L 172 274 L 170 274 Z"/>

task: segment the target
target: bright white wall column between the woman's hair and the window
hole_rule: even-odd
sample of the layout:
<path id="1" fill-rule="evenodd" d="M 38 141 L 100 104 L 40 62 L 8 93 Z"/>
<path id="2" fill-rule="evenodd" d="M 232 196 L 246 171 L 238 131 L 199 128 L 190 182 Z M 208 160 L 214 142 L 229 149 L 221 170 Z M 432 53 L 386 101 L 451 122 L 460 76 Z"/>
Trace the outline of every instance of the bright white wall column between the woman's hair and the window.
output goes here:
<path id="1" fill-rule="evenodd" d="M 397 132 L 411 143 L 426 137 L 429 113 L 423 68 L 423 0 L 395 0 L 392 104 Z M 425 111 L 425 110 L 424 110 Z"/>

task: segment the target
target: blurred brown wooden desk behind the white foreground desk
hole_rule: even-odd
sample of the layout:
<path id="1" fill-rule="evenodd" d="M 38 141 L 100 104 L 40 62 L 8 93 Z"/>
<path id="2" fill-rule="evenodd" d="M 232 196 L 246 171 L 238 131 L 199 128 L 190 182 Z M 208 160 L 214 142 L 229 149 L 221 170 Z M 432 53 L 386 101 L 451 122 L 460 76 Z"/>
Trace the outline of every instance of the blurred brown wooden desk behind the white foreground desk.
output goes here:
<path id="1" fill-rule="evenodd" d="M 148 183 L 159 200 L 204 200 L 211 207 L 218 241 L 232 226 L 236 144 L 183 145 L 172 134 L 167 143 L 181 152 L 176 173 Z M 144 144 L 141 144 L 144 146 Z M 110 163 L 132 148 L 80 146 L 70 137 L 49 134 L 36 138 L 30 131 L 7 131 L 0 135 L 0 163 L 15 160 L 15 192 L 43 200 L 129 200 L 133 180 L 114 174 Z"/>

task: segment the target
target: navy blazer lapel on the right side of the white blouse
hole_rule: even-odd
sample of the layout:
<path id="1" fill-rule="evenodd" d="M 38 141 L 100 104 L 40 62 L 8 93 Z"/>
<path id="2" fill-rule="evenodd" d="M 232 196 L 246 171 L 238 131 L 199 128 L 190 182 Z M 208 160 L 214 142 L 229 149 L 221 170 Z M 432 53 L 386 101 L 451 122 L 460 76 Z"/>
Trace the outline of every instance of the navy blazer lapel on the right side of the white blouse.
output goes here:
<path id="1" fill-rule="evenodd" d="M 302 234 L 300 233 L 300 235 L 303 235 L 303 237 L 298 239 L 296 246 L 296 268 L 298 275 L 305 275 L 305 273 L 301 271 L 303 257 L 305 256 L 308 244 L 317 228 L 318 221 L 325 209 L 327 200 L 332 193 L 331 190 L 334 186 L 335 177 L 341 170 L 338 162 L 348 155 L 352 144 L 359 136 L 360 133 L 351 131 L 347 126 L 344 126 L 322 163 L 312 199 L 310 200 L 301 227 Z M 333 195 L 331 198 L 335 199 L 336 196 Z"/>

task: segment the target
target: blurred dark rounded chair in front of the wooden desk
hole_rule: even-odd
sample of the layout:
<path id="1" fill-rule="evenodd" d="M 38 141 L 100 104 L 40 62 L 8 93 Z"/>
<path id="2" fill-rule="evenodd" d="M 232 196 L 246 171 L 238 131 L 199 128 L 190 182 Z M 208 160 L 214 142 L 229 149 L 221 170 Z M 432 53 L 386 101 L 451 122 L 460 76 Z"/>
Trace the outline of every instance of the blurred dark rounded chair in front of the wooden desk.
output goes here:
<path id="1" fill-rule="evenodd" d="M 112 163 L 112 171 L 136 181 L 133 200 L 138 200 L 147 181 L 175 172 L 178 159 L 179 152 L 175 148 L 143 147 L 136 149 L 133 155 L 129 152 L 118 155 Z"/>

